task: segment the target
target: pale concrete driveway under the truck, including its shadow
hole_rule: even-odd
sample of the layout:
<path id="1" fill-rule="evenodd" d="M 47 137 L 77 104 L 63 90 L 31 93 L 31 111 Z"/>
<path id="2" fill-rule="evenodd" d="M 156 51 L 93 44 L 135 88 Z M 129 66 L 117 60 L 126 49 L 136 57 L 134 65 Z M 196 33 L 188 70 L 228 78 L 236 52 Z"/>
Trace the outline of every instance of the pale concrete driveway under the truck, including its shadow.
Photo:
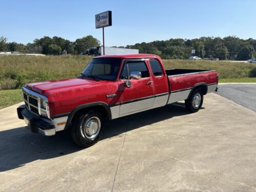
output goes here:
<path id="1" fill-rule="evenodd" d="M 17 105 L 16 105 L 17 106 Z M 81 149 L 0 110 L 1 191 L 255 191 L 256 113 L 217 94 L 113 120 Z"/>

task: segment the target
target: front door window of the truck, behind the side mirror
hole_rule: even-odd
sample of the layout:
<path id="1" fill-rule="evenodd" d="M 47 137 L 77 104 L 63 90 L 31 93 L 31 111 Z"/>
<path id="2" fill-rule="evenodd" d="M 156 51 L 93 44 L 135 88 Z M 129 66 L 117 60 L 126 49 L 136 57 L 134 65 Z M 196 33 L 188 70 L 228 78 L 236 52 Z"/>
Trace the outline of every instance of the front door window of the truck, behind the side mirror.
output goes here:
<path id="1" fill-rule="evenodd" d="M 131 72 L 141 72 L 141 78 L 149 77 L 150 73 L 148 73 L 148 70 L 146 68 L 146 64 L 144 61 L 130 61 L 127 62 L 128 66 L 128 76 L 131 75 Z"/>

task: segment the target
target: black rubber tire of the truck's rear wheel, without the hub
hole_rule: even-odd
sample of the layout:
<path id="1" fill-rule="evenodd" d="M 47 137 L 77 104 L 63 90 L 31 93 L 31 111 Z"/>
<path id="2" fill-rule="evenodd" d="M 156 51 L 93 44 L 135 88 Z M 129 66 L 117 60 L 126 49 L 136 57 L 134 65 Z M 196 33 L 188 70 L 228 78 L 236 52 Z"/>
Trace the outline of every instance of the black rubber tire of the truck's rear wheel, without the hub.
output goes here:
<path id="1" fill-rule="evenodd" d="M 193 104 L 194 97 L 195 96 L 199 97 L 199 95 L 201 97 L 200 103 Z M 196 89 L 192 92 L 192 94 L 189 96 L 189 98 L 185 100 L 186 109 L 192 113 L 198 112 L 201 109 L 203 101 L 204 101 L 204 94 L 203 94 L 202 90 Z"/>

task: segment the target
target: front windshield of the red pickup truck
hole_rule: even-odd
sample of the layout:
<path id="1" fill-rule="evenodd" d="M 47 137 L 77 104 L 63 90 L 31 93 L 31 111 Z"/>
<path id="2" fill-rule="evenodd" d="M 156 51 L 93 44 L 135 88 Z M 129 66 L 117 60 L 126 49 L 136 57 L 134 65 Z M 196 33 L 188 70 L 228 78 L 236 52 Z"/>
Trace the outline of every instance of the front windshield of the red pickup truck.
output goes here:
<path id="1" fill-rule="evenodd" d="M 80 77 L 115 80 L 121 66 L 121 60 L 117 58 L 92 59 L 82 71 Z"/>

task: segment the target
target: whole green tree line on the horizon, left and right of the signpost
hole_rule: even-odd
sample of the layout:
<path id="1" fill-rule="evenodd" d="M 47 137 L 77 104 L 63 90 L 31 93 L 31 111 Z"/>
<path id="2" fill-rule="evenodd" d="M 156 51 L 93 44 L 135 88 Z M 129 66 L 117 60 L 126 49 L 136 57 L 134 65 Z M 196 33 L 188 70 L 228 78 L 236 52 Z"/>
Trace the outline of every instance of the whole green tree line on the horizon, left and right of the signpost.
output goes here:
<path id="1" fill-rule="evenodd" d="M 63 51 L 68 54 L 80 54 L 86 49 L 100 46 L 100 41 L 92 35 L 70 41 L 61 37 L 44 36 L 35 39 L 27 45 L 7 42 L 7 38 L 0 37 L 0 51 L 18 51 L 24 53 L 42 53 L 59 55 Z M 150 53 L 164 59 L 187 59 L 191 55 L 201 58 L 219 58 L 222 60 L 247 60 L 254 58 L 256 39 L 242 39 L 236 36 L 201 37 L 195 39 L 168 39 L 153 42 L 142 42 L 119 48 L 139 49 L 139 53 Z M 191 50 L 195 54 L 191 54 Z"/>

